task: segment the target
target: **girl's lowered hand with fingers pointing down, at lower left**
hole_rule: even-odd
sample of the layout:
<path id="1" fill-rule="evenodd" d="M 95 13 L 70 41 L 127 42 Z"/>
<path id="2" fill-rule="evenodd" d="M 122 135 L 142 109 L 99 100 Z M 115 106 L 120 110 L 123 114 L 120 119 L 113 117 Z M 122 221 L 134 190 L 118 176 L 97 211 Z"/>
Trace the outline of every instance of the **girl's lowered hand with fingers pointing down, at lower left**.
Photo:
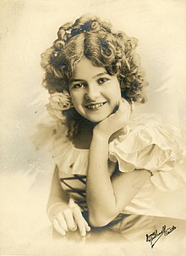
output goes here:
<path id="1" fill-rule="evenodd" d="M 90 231 L 90 226 L 81 214 L 79 205 L 70 198 L 68 206 L 56 214 L 52 221 L 53 228 L 62 236 L 65 236 L 67 231 L 76 231 L 78 228 L 80 235 L 85 237 L 86 232 Z"/>

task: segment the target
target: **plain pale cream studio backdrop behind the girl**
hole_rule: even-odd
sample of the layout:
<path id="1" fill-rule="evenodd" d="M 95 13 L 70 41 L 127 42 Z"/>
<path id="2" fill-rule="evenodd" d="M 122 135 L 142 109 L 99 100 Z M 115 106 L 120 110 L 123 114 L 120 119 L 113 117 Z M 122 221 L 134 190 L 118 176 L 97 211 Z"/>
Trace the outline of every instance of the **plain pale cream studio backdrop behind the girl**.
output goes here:
<path id="1" fill-rule="evenodd" d="M 58 27 L 90 13 L 137 37 L 149 81 L 148 103 L 137 113 L 161 114 L 162 120 L 186 131 L 186 1 L 0 0 L 0 13 L 0 254 L 4 255 L 14 254 L 15 248 L 49 225 L 45 209 L 54 165 L 49 154 L 35 151 L 30 136 L 48 97 L 41 88 L 40 55 L 57 38 Z M 160 202 L 165 213 L 175 217 L 182 213 L 186 219 L 185 192 L 167 195 L 172 207 L 167 200 Z"/>

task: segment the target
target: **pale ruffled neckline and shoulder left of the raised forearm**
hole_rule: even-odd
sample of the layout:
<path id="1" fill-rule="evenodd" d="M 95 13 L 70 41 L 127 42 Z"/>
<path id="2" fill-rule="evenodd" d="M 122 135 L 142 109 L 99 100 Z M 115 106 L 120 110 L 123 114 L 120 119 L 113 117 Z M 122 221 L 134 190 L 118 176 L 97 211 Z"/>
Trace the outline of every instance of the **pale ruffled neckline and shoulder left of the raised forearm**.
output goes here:
<path id="1" fill-rule="evenodd" d="M 59 171 L 69 175 L 86 175 L 89 150 L 74 147 L 67 133 L 67 127 L 61 120 L 52 119 L 37 125 L 32 139 L 36 149 L 45 148 L 52 154 Z"/>

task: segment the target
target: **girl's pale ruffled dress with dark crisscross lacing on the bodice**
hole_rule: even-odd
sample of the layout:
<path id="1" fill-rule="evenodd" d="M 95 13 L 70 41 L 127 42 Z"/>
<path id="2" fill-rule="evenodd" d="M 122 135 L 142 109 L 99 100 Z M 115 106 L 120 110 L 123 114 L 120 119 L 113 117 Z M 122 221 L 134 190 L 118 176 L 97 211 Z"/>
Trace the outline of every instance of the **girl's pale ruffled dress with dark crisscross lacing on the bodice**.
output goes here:
<path id="1" fill-rule="evenodd" d="M 67 138 L 66 126 L 60 120 L 52 120 L 38 128 L 37 146 L 47 146 L 52 153 L 63 189 L 76 201 L 85 198 L 89 150 L 74 147 Z M 122 172 L 145 169 L 151 173 L 150 180 L 123 209 L 123 214 L 162 216 L 154 203 L 156 190 L 172 190 L 186 184 L 186 170 L 183 168 L 186 166 L 185 136 L 176 127 L 162 124 L 153 115 L 141 115 L 131 120 L 124 133 L 109 143 L 109 159 L 118 162 Z M 79 181 L 73 179 L 74 176 L 82 178 Z"/>

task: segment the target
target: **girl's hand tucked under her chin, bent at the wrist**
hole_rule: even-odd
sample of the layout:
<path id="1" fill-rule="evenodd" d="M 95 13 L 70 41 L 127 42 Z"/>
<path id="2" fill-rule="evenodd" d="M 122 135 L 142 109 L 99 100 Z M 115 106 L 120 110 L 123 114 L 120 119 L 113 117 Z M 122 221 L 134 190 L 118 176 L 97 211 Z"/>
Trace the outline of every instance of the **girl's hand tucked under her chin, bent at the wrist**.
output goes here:
<path id="1" fill-rule="evenodd" d="M 107 139 L 113 133 L 122 129 L 129 121 L 131 108 L 125 99 L 121 99 L 118 104 L 118 110 L 109 115 L 105 120 L 102 120 L 94 129 L 94 133 L 101 136 L 106 136 Z"/>

